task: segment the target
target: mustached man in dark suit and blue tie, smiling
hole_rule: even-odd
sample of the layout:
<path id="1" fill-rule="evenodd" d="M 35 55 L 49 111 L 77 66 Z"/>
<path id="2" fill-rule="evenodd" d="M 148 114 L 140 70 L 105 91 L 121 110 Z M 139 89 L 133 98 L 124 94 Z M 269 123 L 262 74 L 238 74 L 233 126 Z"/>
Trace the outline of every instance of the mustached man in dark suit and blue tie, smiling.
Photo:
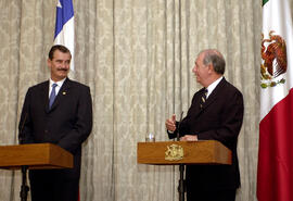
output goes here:
<path id="1" fill-rule="evenodd" d="M 81 143 L 92 128 L 89 87 L 67 78 L 71 52 L 53 46 L 48 66 L 51 78 L 28 89 L 20 121 L 21 143 L 50 142 L 74 155 L 72 169 L 29 171 L 33 201 L 77 201 Z M 50 100 L 50 101 L 49 101 Z"/>

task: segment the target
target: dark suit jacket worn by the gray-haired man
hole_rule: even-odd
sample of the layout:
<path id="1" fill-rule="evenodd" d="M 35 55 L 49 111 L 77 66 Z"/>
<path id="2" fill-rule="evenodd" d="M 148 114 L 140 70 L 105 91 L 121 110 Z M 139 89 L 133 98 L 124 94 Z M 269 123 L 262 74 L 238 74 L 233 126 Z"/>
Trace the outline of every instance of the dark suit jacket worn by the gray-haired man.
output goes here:
<path id="1" fill-rule="evenodd" d="M 179 126 L 180 136 L 198 135 L 199 140 L 220 141 L 232 151 L 232 165 L 189 165 L 187 184 L 202 190 L 238 188 L 237 143 L 244 111 L 242 93 L 222 78 L 201 109 L 203 92 L 204 89 L 201 89 L 194 95 L 188 114 Z M 176 137 L 177 131 L 169 134 L 169 138 Z"/>

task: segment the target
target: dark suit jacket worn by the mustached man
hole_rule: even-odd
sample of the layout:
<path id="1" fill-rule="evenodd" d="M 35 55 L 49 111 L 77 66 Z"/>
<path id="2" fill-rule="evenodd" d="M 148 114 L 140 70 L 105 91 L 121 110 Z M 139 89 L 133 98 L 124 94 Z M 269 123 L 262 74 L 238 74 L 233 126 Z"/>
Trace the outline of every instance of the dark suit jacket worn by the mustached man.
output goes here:
<path id="1" fill-rule="evenodd" d="M 74 155 L 68 177 L 79 178 L 81 143 L 92 128 L 92 102 L 89 87 L 68 78 L 63 83 L 49 110 L 49 80 L 28 89 L 20 121 L 20 140 L 24 143 L 51 142 Z"/>

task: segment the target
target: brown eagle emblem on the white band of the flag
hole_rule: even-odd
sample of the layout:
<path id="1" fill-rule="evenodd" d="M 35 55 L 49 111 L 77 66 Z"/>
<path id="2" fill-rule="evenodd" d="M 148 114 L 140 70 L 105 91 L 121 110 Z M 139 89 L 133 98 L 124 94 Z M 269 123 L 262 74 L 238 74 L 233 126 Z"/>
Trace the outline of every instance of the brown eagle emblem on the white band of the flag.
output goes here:
<path id="1" fill-rule="evenodd" d="M 286 48 L 284 39 L 269 32 L 269 38 L 262 34 L 260 87 L 275 87 L 284 84 L 284 78 L 278 78 L 286 72 Z"/>

